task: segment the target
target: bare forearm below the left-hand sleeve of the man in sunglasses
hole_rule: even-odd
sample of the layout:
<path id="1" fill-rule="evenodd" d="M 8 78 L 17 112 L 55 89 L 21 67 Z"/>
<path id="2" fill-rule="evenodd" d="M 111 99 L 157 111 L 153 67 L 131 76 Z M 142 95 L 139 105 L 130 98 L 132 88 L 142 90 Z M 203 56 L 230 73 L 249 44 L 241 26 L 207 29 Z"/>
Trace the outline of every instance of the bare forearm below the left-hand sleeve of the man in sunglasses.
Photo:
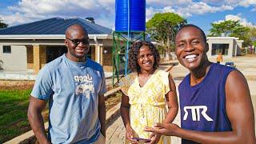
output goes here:
<path id="1" fill-rule="evenodd" d="M 45 108 L 46 103 L 46 101 L 30 96 L 30 105 L 27 111 L 27 117 L 39 143 L 50 143 L 47 139 L 42 119 L 42 110 Z"/>

